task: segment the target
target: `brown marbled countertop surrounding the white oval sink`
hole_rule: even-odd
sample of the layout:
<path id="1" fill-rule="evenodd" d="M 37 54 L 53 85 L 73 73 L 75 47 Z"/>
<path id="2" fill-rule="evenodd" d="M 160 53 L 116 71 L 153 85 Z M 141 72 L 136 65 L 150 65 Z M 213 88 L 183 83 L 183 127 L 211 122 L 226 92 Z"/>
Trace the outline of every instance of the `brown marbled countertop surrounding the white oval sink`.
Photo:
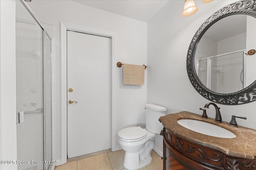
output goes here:
<path id="1" fill-rule="evenodd" d="M 195 119 L 214 125 L 218 125 L 228 129 L 236 135 L 235 138 L 219 138 L 204 135 L 195 131 L 191 131 L 177 123 L 179 119 Z M 201 115 L 190 113 L 188 111 L 181 111 L 179 113 L 161 116 L 159 121 L 164 127 L 174 133 L 177 137 L 186 139 L 187 141 L 196 143 L 198 145 L 206 146 L 228 154 L 230 156 L 237 156 L 241 158 L 254 159 L 256 156 L 256 130 L 246 127 L 233 127 L 229 123 L 216 122 L 215 119 L 205 119 Z"/>

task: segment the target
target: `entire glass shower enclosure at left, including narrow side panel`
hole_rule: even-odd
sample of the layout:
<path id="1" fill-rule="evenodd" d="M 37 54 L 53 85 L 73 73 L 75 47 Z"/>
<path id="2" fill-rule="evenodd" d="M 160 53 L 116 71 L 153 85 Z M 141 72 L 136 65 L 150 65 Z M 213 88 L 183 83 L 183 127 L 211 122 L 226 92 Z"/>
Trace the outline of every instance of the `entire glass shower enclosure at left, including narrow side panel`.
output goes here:
<path id="1" fill-rule="evenodd" d="M 16 1 L 18 170 L 48 170 L 52 161 L 52 39 L 22 0 Z"/>

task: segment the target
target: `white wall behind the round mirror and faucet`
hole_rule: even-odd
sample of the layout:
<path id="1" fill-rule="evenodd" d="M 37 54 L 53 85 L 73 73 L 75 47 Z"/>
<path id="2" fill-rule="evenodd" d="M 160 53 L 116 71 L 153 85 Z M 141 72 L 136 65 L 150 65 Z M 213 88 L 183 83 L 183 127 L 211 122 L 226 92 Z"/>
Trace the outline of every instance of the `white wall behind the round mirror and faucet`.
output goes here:
<path id="1" fill-rule="evenodd" d="M 196 0 L 198 12 L 183 18 L 184 1 L 171 0 L 148 21 L 148 86 L 147 102 L 167 108 L 167 113 L 190 111 L 202 114 L 200 107 L 209 102 L 192 86 L 186 70 L 186 57 L 190 42 L 200 25 L 218 9 L 235 2 L 214 0 L 202 4 Z M 239 125 L 256 129 L 256 102 L 226 106 L 218 104 L 223 121 L 231 115 L 246 116 L 237 119 Z M 215 118 L 215 109 L 207 109 L 209 117 Z"/>

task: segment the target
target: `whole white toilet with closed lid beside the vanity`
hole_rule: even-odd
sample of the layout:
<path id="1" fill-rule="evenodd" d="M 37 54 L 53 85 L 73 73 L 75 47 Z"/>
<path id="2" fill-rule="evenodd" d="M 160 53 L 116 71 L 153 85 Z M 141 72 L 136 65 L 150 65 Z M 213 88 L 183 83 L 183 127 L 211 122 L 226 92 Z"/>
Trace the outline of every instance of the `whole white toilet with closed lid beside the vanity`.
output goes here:
<path id="1" fill-rule="evenodd" d="M 166 115 L 166 108 L 155 104 L 146 104 L 146 128 L 128 127 L 118 132 L 118 143 L 125 151 L 124 167 L 136 170 L 151 163 L 150 152 L 154 148 L 154 136 L 163 129 L 158 121 Z"/>

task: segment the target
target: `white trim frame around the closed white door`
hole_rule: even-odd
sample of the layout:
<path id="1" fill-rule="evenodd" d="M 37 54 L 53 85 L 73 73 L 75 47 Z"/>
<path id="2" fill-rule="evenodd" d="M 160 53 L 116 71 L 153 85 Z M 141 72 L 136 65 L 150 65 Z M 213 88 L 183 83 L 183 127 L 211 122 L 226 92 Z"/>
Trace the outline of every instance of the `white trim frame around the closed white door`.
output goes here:
<path id="1" fill-rule="evenodd" d="M 116 151 L 115 33 L 60 22 L 61 49 L 61 164 L 67 161 L 67 30 L 111 38 L 111 150 Z"/>

